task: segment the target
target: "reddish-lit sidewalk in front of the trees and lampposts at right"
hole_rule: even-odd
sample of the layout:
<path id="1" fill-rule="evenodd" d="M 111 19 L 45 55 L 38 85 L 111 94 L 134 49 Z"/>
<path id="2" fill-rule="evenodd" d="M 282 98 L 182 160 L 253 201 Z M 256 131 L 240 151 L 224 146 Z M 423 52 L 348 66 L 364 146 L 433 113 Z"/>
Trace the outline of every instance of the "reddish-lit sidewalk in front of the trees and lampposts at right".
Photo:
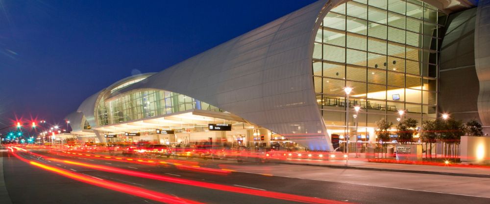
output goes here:
<path id="1" fill-rule="evenodd" d="M 376 162 L 368 162 L 368 160 L 365 158 L 349 158 L 348 162 L 346 160 L 321 161 L 321 160 L 309 160 L 309 159 L 288 159 L 286 161 L 281 161 L 279 163 L 293 164 L 293 165 L 320 166 L 320 167 L 328 167 L 328 168 L 490 178 L 490 168 L 475 167 L 471 165 L 468 165 L 467 167 L 454 167 L 451 165 L 433 166 L 433 165 L 416 165 L 416 164 L 376 163 Z"/>

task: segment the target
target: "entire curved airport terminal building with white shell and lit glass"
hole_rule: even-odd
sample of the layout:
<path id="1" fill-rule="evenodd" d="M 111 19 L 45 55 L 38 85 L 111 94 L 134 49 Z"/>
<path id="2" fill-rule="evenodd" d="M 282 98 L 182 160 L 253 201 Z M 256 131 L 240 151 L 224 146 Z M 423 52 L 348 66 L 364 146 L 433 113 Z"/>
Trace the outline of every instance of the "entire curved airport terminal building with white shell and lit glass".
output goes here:
<path id="1" fill-rule="evenodd" d="M 96 142 L 320 151 L 333 150 L 332 135 L 376 141 L 381 118 L 420 125 L 447 113 L 487 133 L 489 22 L 490 0 L 319 0 L 161 72 L 124 78 L 67 119 Z"/>

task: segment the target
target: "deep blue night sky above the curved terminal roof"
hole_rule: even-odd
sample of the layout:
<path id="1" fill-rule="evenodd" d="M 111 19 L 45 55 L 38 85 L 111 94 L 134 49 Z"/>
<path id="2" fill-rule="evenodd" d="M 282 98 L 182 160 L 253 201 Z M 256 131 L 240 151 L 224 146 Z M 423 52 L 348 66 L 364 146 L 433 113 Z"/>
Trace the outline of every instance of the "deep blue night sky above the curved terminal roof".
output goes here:
<path id="1" fill-rule="evenodd" d="M 0 0 L 0 128 L 62 122 L 88 96 L 158 72 L 315 0 Z"/>

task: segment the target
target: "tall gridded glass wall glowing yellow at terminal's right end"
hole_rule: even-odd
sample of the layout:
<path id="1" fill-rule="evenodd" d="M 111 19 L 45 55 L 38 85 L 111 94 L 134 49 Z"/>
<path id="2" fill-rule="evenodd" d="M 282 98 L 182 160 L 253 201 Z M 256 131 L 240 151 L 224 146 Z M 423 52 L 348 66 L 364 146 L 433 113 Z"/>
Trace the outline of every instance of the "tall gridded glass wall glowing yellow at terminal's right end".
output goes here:
<path id="1" fill-rule="evenodd" d="M 363 137 L 387 118 L 434 119 L 444 14 L 418 0 L 352 0 L 323 19 L 313 53 L 317 102 L 330 133 L 345 131 L 344 87 Z M 352 108 L 350 108 L 352 109 Z M 355 126 L 349 110 L 349 126 Z M 368 130 L 368 129 L 371 130 Z M 373 135 L 373 133 L 371 133 Z"/>

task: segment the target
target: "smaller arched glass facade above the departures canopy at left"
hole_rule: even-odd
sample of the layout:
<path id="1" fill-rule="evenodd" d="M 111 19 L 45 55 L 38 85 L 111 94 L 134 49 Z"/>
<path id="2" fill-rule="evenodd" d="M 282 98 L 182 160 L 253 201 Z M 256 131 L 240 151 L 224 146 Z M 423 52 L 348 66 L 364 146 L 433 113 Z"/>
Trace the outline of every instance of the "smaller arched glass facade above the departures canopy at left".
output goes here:
<path id="1" fill-rule="evenodd" d="M 215 106 L 182 94 L 151 89 L 130 92 L 107 101 L 101 97 L 96 113 L 98 125 L 105 126 L 192 109 L 222 112 Z"/>

